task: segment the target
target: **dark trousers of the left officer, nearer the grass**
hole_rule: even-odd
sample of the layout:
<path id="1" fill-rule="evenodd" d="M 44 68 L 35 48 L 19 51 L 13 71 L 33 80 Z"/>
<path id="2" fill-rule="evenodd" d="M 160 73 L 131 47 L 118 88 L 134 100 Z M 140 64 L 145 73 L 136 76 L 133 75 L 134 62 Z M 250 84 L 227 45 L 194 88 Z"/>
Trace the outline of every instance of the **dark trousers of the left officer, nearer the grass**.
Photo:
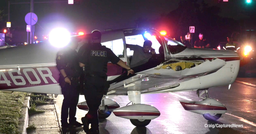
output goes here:
<path id="1" fill-rule="evenodd" d="M 79 86 L 77 84 L 71 85 L 66 83 L 65 81 L 60 79 L 60 87 L 62 94 L 64 96 L 62 108 L 61 108 L 61 122 L 65 123 L 68 121 L 69 123 L 76 121 L 76 107 L 79 101 Z"/>

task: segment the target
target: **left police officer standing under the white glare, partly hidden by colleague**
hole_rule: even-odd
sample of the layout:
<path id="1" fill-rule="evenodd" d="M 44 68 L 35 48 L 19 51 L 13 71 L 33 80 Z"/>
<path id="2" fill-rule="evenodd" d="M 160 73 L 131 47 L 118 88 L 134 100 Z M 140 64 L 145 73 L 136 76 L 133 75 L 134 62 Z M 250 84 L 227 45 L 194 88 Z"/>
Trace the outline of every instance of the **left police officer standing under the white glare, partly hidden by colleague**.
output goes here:
<path id="1" fill-rule="evenodd" d="M 59 83 L 64 96 L 61 108 L 62 127 L 82 126 L 76 121 L 76 106 L 79 100 L 79 67 L 76 49 L 79 39 L 72 38 L 71 42 L 57 53 L 57 69 L 60 71 Z M 68 124 L 69 115 L 69 124 Z"/>

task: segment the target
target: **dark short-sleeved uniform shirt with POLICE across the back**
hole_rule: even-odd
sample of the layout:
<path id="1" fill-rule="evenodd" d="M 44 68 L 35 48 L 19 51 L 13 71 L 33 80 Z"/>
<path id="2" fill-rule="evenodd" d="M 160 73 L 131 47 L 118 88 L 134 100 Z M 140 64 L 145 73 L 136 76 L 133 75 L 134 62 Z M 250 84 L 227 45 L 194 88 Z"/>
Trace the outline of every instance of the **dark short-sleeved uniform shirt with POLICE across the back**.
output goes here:
<path id="1" fill-rule="evenodd" d="M 119 58 L 111 49 L 102 46 L 101 43 L 92 43 L 83 47 L 83 52 L 79 52 L 79 62 L 85 65 L 85 73 L 105 76 L 108 69 L 108 62 L 113 64 L 119 62 Z"/>

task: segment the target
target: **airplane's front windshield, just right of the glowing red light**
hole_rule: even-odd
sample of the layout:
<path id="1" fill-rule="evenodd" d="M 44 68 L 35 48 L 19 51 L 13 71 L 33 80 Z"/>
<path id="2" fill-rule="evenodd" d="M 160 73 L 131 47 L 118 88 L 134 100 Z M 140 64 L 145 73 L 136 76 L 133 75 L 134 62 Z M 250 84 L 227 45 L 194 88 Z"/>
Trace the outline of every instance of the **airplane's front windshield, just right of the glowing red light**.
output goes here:
<path id="1" fill-rule="evenodd" d="M 183 45 L 182 43 L 180 43 L 176 40 L 173 40 L 166 36 L 164 38 L 167 42 L 167 45 L 168 45 L 168 48 L 169 48 L 171 54 L 177 54 L 179 52 L 184 51 L 187 48 L 185 45 Z"/>

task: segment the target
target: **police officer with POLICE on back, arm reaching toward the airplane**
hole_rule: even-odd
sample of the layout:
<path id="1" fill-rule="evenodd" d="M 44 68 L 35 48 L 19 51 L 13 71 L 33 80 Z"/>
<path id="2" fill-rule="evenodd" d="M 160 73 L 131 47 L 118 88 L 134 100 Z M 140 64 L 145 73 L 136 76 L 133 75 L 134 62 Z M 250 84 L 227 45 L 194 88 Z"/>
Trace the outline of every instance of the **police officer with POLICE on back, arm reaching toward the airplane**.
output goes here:
<path id="1" fill-rule="evenodd" d="M 92 43 L 88 45 L 79 55 L 80 67 L 85 66 L 85 100 L 89 108 L 85 117 L 82 117 L 83 129 L 89 134 L 99 134 L 98 109 L 105 89 L 107 88 L 107 64 L 108 61 L 118 64 L 128 70 L 128 75 L 133 70 L 120 60 L 109 48 L 101 45 L 100 31 L 93 31 L 91 34 Z M 91 123 L 91 129 L 89 129 Z"/>

